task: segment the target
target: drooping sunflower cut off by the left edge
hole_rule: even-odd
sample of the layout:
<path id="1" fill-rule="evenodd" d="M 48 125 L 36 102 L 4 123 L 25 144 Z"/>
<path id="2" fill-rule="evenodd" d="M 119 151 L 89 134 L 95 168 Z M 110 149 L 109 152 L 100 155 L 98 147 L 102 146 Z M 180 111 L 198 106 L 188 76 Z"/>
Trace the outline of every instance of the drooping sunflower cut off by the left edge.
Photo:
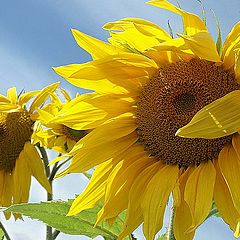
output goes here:
<path id="1" fill-rule="evenodd" d="M 51 192 L 41 157 L 31 143 L 31 136 L 37 117 L 36 109 L 57 86 L 58 83 L 52 84 L 41 91 L 27 92 L 19 97 L 13 87 L 8 89 L 7 96 L 0 95 L 1 206 L 27 202 L 31 176 Z M 27 106 L 32 98 L 30 106 Z M 10 217 L 10 214 L 5 215 Z"/>

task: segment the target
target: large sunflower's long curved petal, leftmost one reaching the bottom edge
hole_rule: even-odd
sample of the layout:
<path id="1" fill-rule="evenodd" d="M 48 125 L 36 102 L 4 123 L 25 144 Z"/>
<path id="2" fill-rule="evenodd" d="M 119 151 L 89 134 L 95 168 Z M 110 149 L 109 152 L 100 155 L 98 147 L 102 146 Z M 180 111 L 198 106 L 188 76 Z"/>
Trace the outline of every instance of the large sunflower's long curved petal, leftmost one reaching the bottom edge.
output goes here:
<path id="1" fill-rule="evenodd" d="M 143 212 L 141 201 L 145 195 L 145 189 L 153 176 L 163 167 L 160 161 L 150 165 L 136 177 L 130 192 L 126 220 L 119 239 L 131 234 L 142 222 Z"/>

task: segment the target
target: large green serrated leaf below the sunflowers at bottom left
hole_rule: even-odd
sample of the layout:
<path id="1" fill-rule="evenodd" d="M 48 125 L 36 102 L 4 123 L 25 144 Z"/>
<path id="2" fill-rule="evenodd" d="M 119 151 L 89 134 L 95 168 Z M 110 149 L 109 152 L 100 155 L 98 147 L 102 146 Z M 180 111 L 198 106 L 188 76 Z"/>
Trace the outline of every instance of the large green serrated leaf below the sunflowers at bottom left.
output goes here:
<path id="1" fill-rule="evenodd" d="M 97 212 L 101 207 L 96 206 L 95 208 L 82 211 L 76 216 L 67 217 L 66 214 L 72 202 L 73 200 L 68 202 L 16 204 L 6 209 L 5 212 L 20 213 L 32 219 L 40 220 L 66 234 L 85 235 L 91 238 L 101 235 L 107 240 L 117 239 L 123 227 L 125 214 L 117 217 L 115 223 L 111 226 L 103 222 L 94 227 Z M 126 239 L 130 238 L 127 237 Z"/>

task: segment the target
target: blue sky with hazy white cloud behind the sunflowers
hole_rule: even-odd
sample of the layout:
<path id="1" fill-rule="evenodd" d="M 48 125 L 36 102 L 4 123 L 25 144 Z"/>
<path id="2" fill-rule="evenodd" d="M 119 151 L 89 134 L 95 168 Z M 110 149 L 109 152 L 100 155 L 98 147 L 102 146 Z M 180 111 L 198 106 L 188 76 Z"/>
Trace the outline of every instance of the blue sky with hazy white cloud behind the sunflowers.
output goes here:
<path id="1" fill-rule="evenodd" d="M 70 29 L 76 28 L 89 35 L 107 40 L 102 25 L 124 17 L 141 17 L 167 29 L 170 20 L 175 32 L 181 32 L 180 18 L 165 10 L 146 5 L 144 0 L 21 0 L 1 1 L 0 8 L 0 81 L 1 93 L 16 86 L 21 89 L 40 89 L 47 84 L 61 81 L 61 86 L 72 96 L 80 91 L 57 76 L 53 66 L 86 62 L 89 55 L 75 43 Z M 185 10 L 200 14 L 197 0 L 179 1 Z M 216 38 L 213 9 L 219 19 L 223 39 L 240 20 L 239 0 L 205 1 L 208 27 Z M 76 184 L 72 184 L 72 182 Z M 67 199 L 82 191 L 86 180 L 79 175 L 59 179 L 54 184 L 55 199 Z M 31 201 L 45 200 L 45 193 L 33 183 Z M 5 223 L 13 240 L 44 239 L 43 225 L 31 220 L 24 223 Z M 139 234 L 139 233 L 138 233 Z M 32 237 L 31 237 L 32 236 Z M 60 240 L 83 239 L 60 235 Z M 139 239 L 143 239 L 140 237 Z M 221 219 L 212 218 L 204 223 L 195 240 L 231 240 L 232 232 Z"/>

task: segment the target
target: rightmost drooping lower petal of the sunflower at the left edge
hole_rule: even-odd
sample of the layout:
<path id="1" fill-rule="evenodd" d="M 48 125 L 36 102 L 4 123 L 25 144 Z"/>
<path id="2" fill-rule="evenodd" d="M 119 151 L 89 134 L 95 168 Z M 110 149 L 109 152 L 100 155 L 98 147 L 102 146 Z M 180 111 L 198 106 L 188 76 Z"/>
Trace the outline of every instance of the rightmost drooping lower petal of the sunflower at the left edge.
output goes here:
<path id="1" fill-rule="evenodd" d="M 38 154 L 37 149 L 30 142 L 26 142 L 23 151 L 25 155 L 25 161 L 27 161 L 32 175 L 49 193 L 51 193 L 52 189 L 45 175 L 43 162 Z"/>

